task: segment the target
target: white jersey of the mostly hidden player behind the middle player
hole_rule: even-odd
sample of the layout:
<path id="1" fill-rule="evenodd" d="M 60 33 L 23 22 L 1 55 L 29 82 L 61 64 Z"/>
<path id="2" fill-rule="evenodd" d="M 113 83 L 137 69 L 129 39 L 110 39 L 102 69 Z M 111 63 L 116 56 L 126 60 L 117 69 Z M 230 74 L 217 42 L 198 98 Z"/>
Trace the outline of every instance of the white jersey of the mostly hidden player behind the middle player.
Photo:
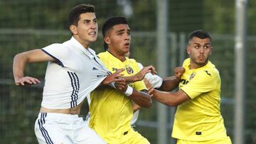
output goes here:
<path id="1" fill-rule="evenodd" d="M 137 62 L 139 65 L 139 68 L 142 70 L 143 69 L 143 65 L 139 62 Z M 146 80 L 149 81 L 149 83 L 154 87 L 154 88 L 159 88 L 161 87 L 161 84 L 163 83 L 163 79 L 161 77 L 159 77 L 156 74 L 151 74 L 150 72 L 147 73 L 144 77 Z M 135 113 L 132 116 L 131 119 L 131 125 L 134 125 L 134 123 L 136 123 L 137 119 L 139 118 L 139 110 L 135 111 Z"/>

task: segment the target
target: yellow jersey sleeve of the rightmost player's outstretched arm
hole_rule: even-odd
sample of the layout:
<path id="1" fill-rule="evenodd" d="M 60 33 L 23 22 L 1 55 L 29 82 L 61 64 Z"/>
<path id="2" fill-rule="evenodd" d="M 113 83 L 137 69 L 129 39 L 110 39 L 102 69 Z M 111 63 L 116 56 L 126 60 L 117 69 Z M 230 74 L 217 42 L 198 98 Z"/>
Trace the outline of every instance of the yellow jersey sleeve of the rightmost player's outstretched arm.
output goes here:
<path id="1" fill-rule="evenodd" d="M 191 99 L 202 93 L 210 92 L 217 87 L 217 77 L 208 71 L 197 72 L 195 77 L 188 84 L 181 87 L 181 90 L 188 94 Z"/>

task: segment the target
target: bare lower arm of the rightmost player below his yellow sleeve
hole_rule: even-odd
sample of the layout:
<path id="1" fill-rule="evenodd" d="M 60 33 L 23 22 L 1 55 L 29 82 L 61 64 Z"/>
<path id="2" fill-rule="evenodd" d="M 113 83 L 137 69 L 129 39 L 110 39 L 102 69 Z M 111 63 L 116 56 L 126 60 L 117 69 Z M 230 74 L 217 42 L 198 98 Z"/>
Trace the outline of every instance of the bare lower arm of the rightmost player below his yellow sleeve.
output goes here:
<path id="1" fill-rule="evenodd" d="M 185 101 L 188 101 L 190 98 L 189 96 L 183 92 L 182 90 L 178 90 L 178 92 L 161 92 L 156 89 L 153 89 L 153 91 L 150 93 L 153 94 L 153 98 L 156 99 L 156 101 L 161 102 L 162 104 L 166 104 L 168 106 L 178 106 L 179 104 L 182 104 Z"/>

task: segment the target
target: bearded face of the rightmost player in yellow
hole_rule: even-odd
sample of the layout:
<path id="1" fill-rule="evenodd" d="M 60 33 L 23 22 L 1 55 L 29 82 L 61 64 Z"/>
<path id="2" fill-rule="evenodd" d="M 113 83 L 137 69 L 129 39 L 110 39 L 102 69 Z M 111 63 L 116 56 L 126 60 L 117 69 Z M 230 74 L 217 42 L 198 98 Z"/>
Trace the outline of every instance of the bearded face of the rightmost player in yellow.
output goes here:
<path id="1" fill-rule="evenodd" d="M 191 57 L 191 68 L 203 67 L 206 65 L 208 58 L 213 50 L 210 38 L 197 38 L 189 42 L 187 47 L 188 55 Z"/>

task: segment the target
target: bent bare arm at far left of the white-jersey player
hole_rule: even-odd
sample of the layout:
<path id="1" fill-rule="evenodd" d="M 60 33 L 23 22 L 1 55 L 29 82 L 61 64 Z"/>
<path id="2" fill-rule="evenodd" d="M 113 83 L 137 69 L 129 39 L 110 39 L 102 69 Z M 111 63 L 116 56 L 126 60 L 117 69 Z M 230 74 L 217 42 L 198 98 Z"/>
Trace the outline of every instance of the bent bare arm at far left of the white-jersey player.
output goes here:
<path id="1" fill-rule="evenodd" d="M 27 52 L 22 52 L 14 57 L 13 72 L 14 80 L 16 85 L 26 85 L 26 84 L 38 84 L 40 81 L 34 77 L 24 76 L 24 70 L 26 63 L 28 62 L 44 62 L 54 59 L 49 55 L 46 55 L 42 50 L 30 50 Z"/>

